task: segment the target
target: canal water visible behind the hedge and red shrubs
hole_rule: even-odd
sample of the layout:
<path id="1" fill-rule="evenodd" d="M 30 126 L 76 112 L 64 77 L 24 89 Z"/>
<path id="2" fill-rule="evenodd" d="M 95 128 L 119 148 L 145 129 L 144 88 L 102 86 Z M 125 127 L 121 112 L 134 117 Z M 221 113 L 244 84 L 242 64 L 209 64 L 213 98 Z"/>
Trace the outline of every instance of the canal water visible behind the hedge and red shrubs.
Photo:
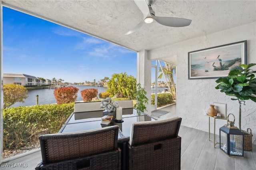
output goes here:
<path id="1" fill-rule="evenodd" d="M 94 87 L 94 86 L 83 86 L 83 85 L 72 85 L 79 89 L 77 93 L 76 101 L 81 101 L 81 91 L 84 89 L 98 89 L 98 94 L 106 91 L 107 87 Z M 56 103 L 56 99 L 53 94 L 54 89 L 39 89 L 39 90 L 29 90 L 28 91 L 28 98 L 25 100 L 24 103 L 17 102 L 11 107 L 18 107 L 18 106 L 32 106 L 36 105 L 36 95 L 38 95 L 38 104 L 45 105 L 45 104 L 53 104 Z"/>

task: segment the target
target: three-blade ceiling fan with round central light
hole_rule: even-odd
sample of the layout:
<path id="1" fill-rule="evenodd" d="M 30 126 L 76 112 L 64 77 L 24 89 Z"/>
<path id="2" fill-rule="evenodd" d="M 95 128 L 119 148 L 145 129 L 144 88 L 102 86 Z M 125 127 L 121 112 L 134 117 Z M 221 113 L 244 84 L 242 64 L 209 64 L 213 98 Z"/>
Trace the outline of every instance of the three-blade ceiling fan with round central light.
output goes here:
<path id="1" fill-rule="evenodd" d="M 151 7 L 155 3 L 155 1 L 156 0 L 134 0 L 135 4 L 138 6 L 138 8 L 143 14 L 143 20 L 130 31 L 128 31 L 125 35 L 136 32 L 143 24 L 150 24 L 154 20 L 159 24 L 169 27 L 184 27 L 190 25 L 191 20 L 188 19 L 155 16 L 155 12 L 152 10 Z"/>

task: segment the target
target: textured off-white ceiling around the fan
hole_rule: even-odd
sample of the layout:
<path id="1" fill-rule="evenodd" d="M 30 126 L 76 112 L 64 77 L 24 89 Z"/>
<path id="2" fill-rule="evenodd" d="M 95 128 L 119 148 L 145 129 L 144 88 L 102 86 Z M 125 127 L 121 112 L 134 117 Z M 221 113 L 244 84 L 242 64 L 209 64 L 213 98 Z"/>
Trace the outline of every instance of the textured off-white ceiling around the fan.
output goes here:
<path id="1" fill-rule="evenodd" d="M 4 6 L 134 51 L 155 49 L 256 21 L 256 0 L 158 0 L 152 6 L 156 16 L 190 19 L 190 26 L 172 28 L 153 22 L 125 35 L 143 18 L 133 0 L 1 1 Z"/>

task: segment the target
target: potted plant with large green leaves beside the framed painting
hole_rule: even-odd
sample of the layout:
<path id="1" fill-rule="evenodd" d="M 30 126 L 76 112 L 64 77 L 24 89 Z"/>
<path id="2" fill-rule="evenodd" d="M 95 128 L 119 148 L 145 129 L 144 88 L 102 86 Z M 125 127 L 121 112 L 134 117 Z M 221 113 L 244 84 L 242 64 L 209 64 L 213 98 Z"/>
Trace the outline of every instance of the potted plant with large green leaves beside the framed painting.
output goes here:
<path id="1" fill-rule="evenodd" d="M 231 100 L 239 102 L 239 129 L 241 130 L 241 102 L 243 100 L 252 100 L 256 102 L 256 71 L 250 69 L 256 63 L 241 64 L 240 69 L 231 70 L 227 77 L 220 77 L 216 80 L 219 83 L 215 89 L 221 89 L 220 92 L 235 97 Z"/>

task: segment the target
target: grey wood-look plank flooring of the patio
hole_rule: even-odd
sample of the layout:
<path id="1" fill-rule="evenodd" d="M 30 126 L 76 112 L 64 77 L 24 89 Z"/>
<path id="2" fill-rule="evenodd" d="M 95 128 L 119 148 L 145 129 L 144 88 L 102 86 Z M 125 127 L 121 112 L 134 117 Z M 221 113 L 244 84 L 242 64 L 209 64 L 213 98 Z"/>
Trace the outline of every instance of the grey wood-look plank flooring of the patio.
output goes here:
<path id="1" fill-rule="evenodd" d="M 176 106 L 175 106 L 176 107 Z M 168 108 L 164 108 L 166 110 Z M 167 117 L 175 116 L 170 110 Z M 165 117 L 162 117 L 164 119 Z M 160 118 L 161 119 L 161 118 Z M 181 126 L 179 136 L 181 142 L 181 169 L 182 170 L 256 170 L 256 142 L 252 151 L 244 151 L 244 158 L 229 157 L 218 148 L 213 147 L 208 140 L 208 132 Z M 1 170 L 33 170 L 41 160 L 41 152 L 35 152 L 7 163 L 27 163 L 26 168 L 4 168 Z"/>

